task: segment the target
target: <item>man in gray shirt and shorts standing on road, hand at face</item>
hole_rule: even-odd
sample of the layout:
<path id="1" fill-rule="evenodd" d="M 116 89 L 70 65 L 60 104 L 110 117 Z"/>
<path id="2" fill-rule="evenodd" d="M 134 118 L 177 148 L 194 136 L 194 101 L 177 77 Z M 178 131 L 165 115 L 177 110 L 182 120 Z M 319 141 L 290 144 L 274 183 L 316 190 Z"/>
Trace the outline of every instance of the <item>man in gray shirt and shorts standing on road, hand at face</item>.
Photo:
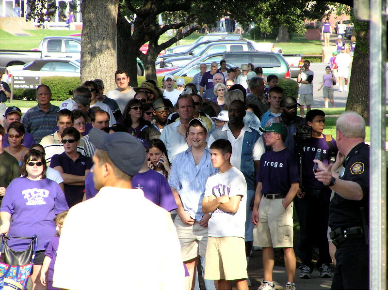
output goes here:
<path id="1" fill-rule="evenodd" d="M 311 104 L 314 102 L 312 95 L 312 80 L 314 78 L 314 72 L 309 69 L 310 61 L 303 61 L 303 67 L 300 68 L 299 74 L 297 77 L 297 82 L 299 85 L 299 105 L 300 116 L 303 118 L 305 116 L 304 104 L 306 104 L 307 112 L 311 110 Z"/>

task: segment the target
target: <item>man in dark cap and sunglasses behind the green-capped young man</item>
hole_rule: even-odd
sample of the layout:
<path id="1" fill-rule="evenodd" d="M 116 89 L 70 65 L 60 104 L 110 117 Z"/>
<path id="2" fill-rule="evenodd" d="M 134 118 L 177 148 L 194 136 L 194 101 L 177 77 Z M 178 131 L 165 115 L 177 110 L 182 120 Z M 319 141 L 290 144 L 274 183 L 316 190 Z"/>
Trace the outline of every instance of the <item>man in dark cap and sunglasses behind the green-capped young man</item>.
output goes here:
<path id="1" fill-rule="evenodd" d="M 293 135 L 296 131 L 296 128 L 298 128 L 299 125 L 306 125 L 306 119 L 299 117 L 296 114 L 299 106 L 300 105 L 293 97 L 282 99 L 280 101 L 281 115 L 279 117 L 271 118 L 266 124 L 266 127 L 272 123 L 283 123 L 283 125 L 286 126 L 288 135 L 284 144 L 292 153 L 295 153 L 295 140 Z M 266 146 L 265 149 L 266 151 L 271 150 L 271 148 L 268 146 Z"/>

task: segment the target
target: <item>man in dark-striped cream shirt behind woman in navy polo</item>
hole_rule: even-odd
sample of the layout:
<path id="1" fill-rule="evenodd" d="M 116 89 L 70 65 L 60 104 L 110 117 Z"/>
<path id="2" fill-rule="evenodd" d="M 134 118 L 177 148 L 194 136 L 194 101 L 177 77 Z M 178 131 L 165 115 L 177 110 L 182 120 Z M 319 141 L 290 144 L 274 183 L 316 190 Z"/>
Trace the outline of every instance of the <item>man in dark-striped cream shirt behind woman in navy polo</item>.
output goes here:
<path id="1" fill-rule="evenodd" d="M 51 157 L 55 154 L 61 154 L 65 152 L 64 146 L 62 144 L 62 133 L 68 127 L 73 127 L 74 116 L 69 109 L 63 109 L 57 113 L 57 126 L 58 131 L 45 136 L 40 141 L 40 145 L 43 146 L 46 152 L 46 163 L 47 166 L 50 166 Z M 85 152 L 85 143 L 83 140 L 80 140 L 80 144 L 77 146 L 77 151 L 82 155 L 87 155 Z"/>

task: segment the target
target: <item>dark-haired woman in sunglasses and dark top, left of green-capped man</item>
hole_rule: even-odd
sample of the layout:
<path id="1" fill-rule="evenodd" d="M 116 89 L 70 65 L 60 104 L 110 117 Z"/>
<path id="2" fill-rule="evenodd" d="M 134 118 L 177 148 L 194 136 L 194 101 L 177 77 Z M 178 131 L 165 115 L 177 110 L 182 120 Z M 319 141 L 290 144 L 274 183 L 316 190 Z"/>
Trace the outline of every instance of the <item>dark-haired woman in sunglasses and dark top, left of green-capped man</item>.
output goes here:
<path id="1" fill-rule="evenodd" d="M 143 103 L 140 100 L 132 99 L 125 106 L 123 118 L 118 123 L 127 127 L 129 134 L 139 137 L 140 131 L 151 123 L 143 118 Z"/>

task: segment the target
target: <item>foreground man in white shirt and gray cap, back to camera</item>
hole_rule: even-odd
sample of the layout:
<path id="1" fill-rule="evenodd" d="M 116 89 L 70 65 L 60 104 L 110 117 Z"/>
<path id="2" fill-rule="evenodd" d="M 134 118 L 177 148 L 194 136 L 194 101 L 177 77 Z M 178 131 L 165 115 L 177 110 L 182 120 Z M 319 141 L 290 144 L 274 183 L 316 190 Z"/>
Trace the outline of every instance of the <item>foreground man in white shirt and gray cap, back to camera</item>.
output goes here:
<path id="1" fill-rule="evenodd" d="M 54 287 L 112 289 L 112 279 L 96 278 L 102 245 L 98 241 L 103 241 L 105 233 L 113 238 L 110 264 L 116 269 L 127 269 L 129 262 L 132 265 L 126 271 L 128 289 L 183 289 L 180 244 L 170 214 L 146 199 L 141 189 L 131 189 L 132 177 L 146 158 L 142 143 L 124 132 L 107 134 L 93 128 L 89 135 L 97 147 L 92 171 L 99 192 L 73 206 L 66 216 Z M 158 247 L 154 246 L 156 237 Z M 151 259 L 145 259 L 145 253 Z"/>

